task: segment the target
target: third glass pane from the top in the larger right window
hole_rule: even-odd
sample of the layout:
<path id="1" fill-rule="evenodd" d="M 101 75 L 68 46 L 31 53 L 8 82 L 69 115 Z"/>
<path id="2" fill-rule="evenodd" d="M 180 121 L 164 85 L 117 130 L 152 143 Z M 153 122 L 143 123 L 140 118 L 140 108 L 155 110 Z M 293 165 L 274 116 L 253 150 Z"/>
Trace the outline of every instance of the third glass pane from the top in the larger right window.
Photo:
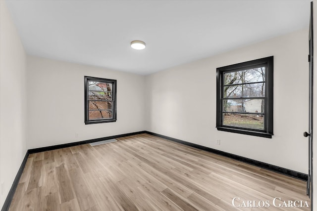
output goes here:
<path id="1" fill-rule="evenodd" d="M 224 112 L 264 113 L 264 99 L 223 100 Z"/>

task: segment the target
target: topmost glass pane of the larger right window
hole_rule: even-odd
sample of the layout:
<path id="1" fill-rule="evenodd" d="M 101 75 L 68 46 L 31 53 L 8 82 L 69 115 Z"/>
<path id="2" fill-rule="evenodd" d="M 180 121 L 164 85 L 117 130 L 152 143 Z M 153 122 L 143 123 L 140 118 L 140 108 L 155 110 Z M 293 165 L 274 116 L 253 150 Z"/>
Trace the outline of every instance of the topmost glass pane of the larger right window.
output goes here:
<path id="1" fill-rule="evenodd" d="M 265 67 L 224 74 L 224 84 L 244 84 L 265 81 Z"/>

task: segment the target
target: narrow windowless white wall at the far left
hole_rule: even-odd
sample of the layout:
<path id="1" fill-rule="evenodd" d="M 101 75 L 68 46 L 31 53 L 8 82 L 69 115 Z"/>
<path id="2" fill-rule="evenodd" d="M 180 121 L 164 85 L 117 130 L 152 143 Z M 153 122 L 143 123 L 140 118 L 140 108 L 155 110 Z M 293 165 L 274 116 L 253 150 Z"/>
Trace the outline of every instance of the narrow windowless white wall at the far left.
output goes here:
<path id="1" fill-rule="evenodd" d="M 26 55 L 0 0 L 0 207 L 26 154 Z"/>

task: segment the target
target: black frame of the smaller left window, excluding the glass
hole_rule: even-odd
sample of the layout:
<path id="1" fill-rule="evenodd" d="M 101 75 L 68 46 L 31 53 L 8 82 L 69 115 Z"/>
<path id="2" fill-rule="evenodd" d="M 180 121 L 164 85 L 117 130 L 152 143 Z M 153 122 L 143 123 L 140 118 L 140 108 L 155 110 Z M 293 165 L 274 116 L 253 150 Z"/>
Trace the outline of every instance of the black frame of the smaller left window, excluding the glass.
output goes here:
<path id="1" fill-rule="evenodd" d="M 108 83 L 108 84 L 112 84 L 112 118 L 111 119 L 94 119 L 94 120 L 89 120 L 89 99 L 88 99 L 88 82 L 89 81 L 95 81 L 95 82 L 101 82 L 101 83 Z M 116 84 L 117 81 L 113 80 L 113 79 L 103 79 L 103 78 L 96 78 L 96 77 L 90 77 L 90 76 L 85 76 L 85 125 L 88 124 L 98 124 L 98 123 L 112 123 L 112 122 L 116 122 L 117 118 L 116 118 Z"/>

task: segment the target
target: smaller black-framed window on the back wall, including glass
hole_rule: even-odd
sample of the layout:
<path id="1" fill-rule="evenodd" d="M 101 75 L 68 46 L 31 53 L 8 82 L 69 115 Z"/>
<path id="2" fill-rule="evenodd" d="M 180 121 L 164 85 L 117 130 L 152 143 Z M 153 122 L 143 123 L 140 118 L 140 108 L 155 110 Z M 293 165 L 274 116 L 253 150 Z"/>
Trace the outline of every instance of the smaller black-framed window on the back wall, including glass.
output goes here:
<path id="1" fill-rule="evenodd" d="M 85 124 L 116 122 L 116 80 L 85 76 Z"/>

